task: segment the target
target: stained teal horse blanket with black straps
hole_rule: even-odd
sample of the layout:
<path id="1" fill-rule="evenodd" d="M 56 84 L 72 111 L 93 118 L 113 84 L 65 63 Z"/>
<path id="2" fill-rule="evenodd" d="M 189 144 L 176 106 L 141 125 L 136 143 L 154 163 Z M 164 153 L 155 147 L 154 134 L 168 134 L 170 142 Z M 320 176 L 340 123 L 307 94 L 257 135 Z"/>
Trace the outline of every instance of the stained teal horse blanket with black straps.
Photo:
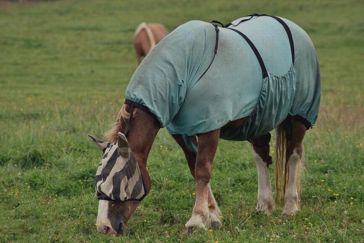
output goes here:
<path id="1" fill-rule="evenodd" d="M 309 36 L 293 22 L 250 15 L 228 27 L 189 21 L 146 56 L 132 76 L 126 103 L 146 106 L 170 134 L 187 136 L 248 117 L 220 138 L 245 141 L 288 115 L 306 128 L 317 119 L 320 68 Z"/>

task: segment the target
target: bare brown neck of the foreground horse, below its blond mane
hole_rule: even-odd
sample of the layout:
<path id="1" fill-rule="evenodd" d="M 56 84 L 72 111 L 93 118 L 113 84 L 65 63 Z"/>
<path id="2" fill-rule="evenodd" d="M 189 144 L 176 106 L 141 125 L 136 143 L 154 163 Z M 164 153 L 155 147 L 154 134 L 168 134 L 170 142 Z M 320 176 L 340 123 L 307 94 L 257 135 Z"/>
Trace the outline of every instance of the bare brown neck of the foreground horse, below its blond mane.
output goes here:
<path id="1" fill-rule="evenodd" d="M 147 193 L 149 193 L 151 186 L 150 176 L 147 171 L 147 158 L 159 128 L 160 125 L 156 118 L 137 110 L 127 138 L 129 147 L 138 161 Z"/>

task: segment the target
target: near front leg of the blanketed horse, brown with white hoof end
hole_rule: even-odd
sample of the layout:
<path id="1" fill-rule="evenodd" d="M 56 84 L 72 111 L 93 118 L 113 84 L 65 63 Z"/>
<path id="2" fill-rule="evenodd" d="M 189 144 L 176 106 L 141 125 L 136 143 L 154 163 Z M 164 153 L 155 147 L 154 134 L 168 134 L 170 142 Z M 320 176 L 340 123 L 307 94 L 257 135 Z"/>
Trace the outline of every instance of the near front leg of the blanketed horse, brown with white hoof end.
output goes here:
<path id="1" fill-rule="evenodd" d="M 186 223 L 187 230 L 192 227 L 211 227 L 209 209 L 209 181 L 211 178 L 212 164 L 219 141 L 220 129 L 200 134 L 198 136 L 198 150 L 195 162 L 196 201 L 192 210 L 192 216 Z M 211 205 L 210 205 L 211 207 Z"/>

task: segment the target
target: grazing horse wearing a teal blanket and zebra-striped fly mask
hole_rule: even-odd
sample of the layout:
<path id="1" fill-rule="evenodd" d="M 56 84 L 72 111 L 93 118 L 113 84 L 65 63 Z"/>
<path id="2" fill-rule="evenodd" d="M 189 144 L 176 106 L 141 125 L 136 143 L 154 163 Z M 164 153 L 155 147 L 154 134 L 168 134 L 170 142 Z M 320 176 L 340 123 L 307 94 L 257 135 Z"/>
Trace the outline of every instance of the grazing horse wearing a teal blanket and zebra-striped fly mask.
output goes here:
<path id="1" fill-rule="evenodd" d="M 181 146 L 197 185 L 187 230 L 221 226 L 209 185 L 219 138 L 252 144 L 256 210 L 272 212 L 269 132 L 274 128 L 276 204 L 283 203 L 282 215 L 296 212 L 302 140 L 316 122 L 319 105 L 316 51 L 291 21 L 253 14 L 222 27 L 203 21 L 179 26 L 135 71 L 106 133 L 110 143 L 93 138 L 104 153 L 96 175 L 98 231 L 125 231 L 150 191 L 147 157 L 163 127 Z"/>

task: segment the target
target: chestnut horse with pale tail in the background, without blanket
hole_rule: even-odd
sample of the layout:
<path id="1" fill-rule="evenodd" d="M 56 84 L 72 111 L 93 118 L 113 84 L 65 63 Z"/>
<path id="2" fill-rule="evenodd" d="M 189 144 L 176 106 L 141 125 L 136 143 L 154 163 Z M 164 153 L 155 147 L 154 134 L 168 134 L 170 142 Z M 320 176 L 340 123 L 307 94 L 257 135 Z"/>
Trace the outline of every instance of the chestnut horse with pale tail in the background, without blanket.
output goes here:
<path id="1" fill-rule="evenodd" d="M 138 26 L 134 34 L 134 47 L 139 64 L 142 62 L 142 56 L 146 56 L 166 35 L 168 30 L 163 24 L 143 22 Z"/>

